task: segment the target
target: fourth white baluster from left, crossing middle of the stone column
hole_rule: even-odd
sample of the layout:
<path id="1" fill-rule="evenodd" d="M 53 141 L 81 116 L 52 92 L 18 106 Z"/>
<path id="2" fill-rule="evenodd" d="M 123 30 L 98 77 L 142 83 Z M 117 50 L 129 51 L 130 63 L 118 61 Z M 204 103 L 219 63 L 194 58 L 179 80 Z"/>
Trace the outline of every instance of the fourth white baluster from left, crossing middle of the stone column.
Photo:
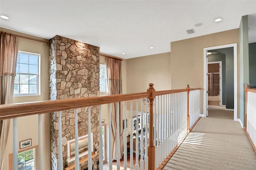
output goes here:
<path id="1" fill-rule="evenodd" d="M 79 146 L 78 146 L 78 113 L 75 111 L 75 169 L 79 170 Z"/>

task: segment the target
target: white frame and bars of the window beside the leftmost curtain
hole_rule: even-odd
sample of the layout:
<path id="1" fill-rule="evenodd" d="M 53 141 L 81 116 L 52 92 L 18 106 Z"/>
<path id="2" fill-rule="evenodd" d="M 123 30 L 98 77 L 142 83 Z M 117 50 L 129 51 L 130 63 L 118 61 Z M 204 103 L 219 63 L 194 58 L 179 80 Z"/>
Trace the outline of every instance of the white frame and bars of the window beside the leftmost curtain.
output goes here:
<path id="1" fill-rule="evenodd" d="M 36 96 L 36 95 L 40 95 L 40 58 L 41 58 L 41 55 L 38 54 L 38 53 L 31 53 L 31 52 L 27 52 L 27 51 L 18 51 L 18 54 L 19 53 L 24 53 L 24 54 L 28 54 L 28 55 L 37 55 L 38 56 L 38 62 L 37 62 L 38 74 L 16 73 L 16 75 L 36 75 L 36 93 L 24 93 L 24 94 L 19 93 L 19 94 L 13 94 L 13 96 L 18 97 L 18 96 Z M 16 67 L 17 67 L 17 65 L 16 65 Z"/>

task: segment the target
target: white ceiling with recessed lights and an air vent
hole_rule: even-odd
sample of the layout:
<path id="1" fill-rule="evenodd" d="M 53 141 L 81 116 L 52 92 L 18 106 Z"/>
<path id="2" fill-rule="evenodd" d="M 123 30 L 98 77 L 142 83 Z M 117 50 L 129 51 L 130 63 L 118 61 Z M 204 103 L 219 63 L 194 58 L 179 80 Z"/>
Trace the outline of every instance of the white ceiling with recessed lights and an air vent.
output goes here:
<path id="1" fill-rule="evenodd" d="M 2 28 L 46 39 L 59 35 L 128 59 L 169 52 L 170 42 L 239 28 L 244 15 L 254 22 L 256 0 L 0 0 L 0 15 L 10 18 L 0 19 Z M 249 23 L 250 42 L 256 42 L 255 23 Z M 187 34 L 192 28 L 196 33 Z"/>

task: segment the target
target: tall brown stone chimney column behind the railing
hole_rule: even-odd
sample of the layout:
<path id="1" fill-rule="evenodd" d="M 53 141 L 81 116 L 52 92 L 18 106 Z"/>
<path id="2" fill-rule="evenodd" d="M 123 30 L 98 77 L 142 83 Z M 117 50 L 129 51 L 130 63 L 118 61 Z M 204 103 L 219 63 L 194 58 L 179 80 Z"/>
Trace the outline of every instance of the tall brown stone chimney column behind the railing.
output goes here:
<path id="1" fill-rule="evenodd" d="M 50 40 L 50 100 L 96 97 L 100 95 L 100 47 L 61 36 Z M 78 108 L 78 137 L 88 134 L 88 108 Z M 93 146 L 99 144 L 99 106 L 91 108 Z M 51 168 L 58 169 L 58 112 L 50 113 Z M 63 160 L 68 158 L 67 141 L 75 138 L 74 109 L 62 111 Z M 81 157 L 81 158 L 84 158 Z M 80 159 L 81 159 L 80 158 Z M 94 169 L 99 157 L 93 158 Z M 72 164 L 70 162 L 68 164 Z M 87 162 L 80 165 L 83 170 Z"/>

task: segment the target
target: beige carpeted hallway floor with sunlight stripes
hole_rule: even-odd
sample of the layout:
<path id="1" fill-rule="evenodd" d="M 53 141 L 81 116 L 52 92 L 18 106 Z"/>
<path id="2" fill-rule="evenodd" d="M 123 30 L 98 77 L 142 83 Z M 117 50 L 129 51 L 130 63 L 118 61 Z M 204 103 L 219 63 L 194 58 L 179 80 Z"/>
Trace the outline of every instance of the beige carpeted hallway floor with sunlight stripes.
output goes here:
<path id="1" fill-rule="evenodd" d="M 256 170 L 256 155 L 240 123 L 232 120 L 234 113 L 220 112 L 209 110 L 198 121 L 163 170 Z"/>

